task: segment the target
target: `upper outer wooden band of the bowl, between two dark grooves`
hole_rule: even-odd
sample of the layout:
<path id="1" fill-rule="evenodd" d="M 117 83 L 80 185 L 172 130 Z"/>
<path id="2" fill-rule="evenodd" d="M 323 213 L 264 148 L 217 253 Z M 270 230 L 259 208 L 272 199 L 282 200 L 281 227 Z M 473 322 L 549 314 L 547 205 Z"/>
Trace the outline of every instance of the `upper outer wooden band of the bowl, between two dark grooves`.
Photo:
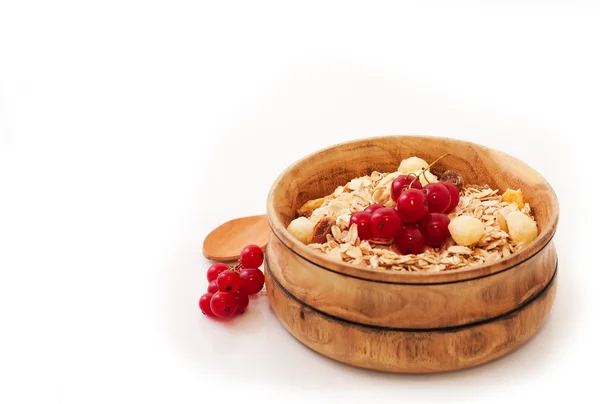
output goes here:
<path id="1" fill-rule="evenodd" d="M 437 328 L 485 320 L 515 309 L 543 289 L 557 264 L 552 242 L 494 276 L 442 284 L 367 281 L 318 267 L 268 244 L 272 276 L 300 301 L 332 316 L 368 325 Z"/>

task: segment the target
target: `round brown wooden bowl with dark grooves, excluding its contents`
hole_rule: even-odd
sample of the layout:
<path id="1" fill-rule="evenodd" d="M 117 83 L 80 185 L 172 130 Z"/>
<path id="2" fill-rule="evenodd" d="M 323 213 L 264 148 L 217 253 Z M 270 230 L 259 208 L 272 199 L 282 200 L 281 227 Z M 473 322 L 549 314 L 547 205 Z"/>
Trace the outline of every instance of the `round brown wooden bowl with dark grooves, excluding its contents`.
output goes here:
<path id="1" fill-rule="evenodd" d="M 287 230 L 309 199 L 352 178 L 395 171 L 419 156 L 466 183 L 521 188 L 539 226 L 532 243 L 488 265 L 439 273 L 362 268 L 311 250 Z M 391 136 L 335 145 L 287 168 L 267 202 L 265 275 L 270 304 L 303 344 L 332 359 L 389 372 L 442 372 L 500 357 L 527 341 L 556 293 L 558 223 L 552 187 L 502 152 L 437 137 Z"/>

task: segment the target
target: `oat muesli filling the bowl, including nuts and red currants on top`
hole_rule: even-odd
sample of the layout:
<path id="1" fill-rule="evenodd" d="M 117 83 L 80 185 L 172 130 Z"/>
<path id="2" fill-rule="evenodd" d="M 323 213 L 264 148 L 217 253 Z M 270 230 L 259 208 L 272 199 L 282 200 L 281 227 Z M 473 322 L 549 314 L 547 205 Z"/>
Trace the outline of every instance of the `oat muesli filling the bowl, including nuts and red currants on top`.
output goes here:
<path id="1" fill-rule="evenodd" d="M 427 272 L 490 263 L 537 237 L 520 189 L 465 185 L 460 173 L 434 174 L 435 162 L 413 156 L 395 172 L 354 178 L 306 202 L 288 230 L 349 264 Z"/>

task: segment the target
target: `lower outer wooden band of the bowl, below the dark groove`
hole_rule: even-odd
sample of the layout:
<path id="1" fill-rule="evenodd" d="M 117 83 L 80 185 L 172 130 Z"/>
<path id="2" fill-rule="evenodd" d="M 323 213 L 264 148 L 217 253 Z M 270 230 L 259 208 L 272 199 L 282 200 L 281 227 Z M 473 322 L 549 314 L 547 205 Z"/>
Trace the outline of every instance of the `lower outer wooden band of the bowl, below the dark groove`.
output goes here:
<path id="1" fill-rule="evenodd" d="M 480 365 L 530 339 L 556 294 L 556 277 L 526 306 L 493 321 L 436 331 L 380 329 L 328 317 L 287 294 L 266 271 L 271 306 L 300 342 L 331 359 L 396 373 L 445 372 Z"/>

